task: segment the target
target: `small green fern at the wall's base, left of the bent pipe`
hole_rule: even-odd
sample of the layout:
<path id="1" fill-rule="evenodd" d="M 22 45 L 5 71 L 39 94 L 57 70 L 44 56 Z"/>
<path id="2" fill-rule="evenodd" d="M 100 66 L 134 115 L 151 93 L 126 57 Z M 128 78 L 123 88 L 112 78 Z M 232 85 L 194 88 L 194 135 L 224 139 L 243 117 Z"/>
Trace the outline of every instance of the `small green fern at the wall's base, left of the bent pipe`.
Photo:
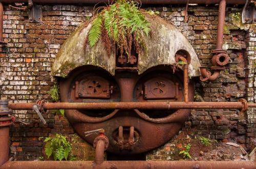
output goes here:
<path id="1" fill-rule="evenodd" d="M 54 160 L 74 160 L 71 155 L 71 143 L 68 142 L 65 136 L 61 134 L 56 134 L 54 137 L 46 137 L 44 140 L 46 142 L 45 152 L 47 158 L 53 156 Z"/>

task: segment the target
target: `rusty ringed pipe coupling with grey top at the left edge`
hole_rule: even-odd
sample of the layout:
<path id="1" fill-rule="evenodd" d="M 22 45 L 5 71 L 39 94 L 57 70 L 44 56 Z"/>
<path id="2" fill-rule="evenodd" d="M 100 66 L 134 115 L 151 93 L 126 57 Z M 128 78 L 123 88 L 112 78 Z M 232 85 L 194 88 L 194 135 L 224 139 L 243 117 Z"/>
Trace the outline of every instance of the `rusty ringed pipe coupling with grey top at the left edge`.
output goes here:
<path id="1" fill-rule="evenodd" d="M 0 127 L 13 124 L 12 110 L 8 108 L 9 100 L 0 100 Z"/>

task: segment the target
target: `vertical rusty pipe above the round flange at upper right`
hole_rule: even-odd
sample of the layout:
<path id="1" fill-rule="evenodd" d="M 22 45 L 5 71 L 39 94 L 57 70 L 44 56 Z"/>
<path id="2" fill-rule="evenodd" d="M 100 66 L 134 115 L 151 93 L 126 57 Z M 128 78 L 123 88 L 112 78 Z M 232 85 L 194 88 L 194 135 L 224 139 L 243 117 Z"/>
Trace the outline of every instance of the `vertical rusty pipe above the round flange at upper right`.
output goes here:
<path id="1" fill-rule="evenodd" d="M 217 30 L 217 49 L 222 49 L 223 32 L 225 24 L 226 0 L 221 0 L 219 4 L 218 30 Z"/>

